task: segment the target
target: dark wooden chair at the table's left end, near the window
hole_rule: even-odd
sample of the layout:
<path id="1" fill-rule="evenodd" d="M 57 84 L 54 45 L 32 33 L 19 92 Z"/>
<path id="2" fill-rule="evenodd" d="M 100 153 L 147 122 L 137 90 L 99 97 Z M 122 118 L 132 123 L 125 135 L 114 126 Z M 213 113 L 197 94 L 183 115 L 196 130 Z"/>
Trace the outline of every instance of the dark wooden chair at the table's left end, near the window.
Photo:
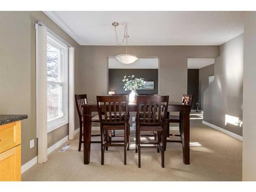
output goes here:
<path id="1" fill-rule="evenodd" d="M 83 112 L 82 112 L 82 105 L 87 104 L 87 94 L 75 95 L 75 102 L 76 102 L 76 109 L 79 116 L 79 145 L 78 151 L 81 151 L 81 145 L 83 143 L 82 136 L 83 136 Z M 99 123 L 99 116 L 96 115 L 91 119 L 92 123 Z M 100 135 L 91 135 L 91 137 L 99 137 Z M 100 141 L 91 141 L 91 143 L 100 143 Z"/>

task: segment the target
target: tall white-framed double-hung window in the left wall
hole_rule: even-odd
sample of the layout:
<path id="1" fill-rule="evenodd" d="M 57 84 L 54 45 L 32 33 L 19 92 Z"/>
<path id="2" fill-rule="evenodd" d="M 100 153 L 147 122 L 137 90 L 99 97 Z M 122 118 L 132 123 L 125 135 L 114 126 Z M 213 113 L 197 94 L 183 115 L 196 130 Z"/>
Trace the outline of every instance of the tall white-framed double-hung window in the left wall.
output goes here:
<path id="1" fill-rule="evenodd" d="M 68 47 L 47 34 L 48 132 L 68 123 Z"/>

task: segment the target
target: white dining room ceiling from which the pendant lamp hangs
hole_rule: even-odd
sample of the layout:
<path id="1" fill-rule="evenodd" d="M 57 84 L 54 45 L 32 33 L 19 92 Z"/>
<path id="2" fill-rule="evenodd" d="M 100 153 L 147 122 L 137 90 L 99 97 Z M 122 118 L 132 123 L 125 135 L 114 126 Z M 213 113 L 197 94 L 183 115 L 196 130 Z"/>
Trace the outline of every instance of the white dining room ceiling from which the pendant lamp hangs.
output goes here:
<path id="1" fill-rule="evenodd" d="M 45 11 L 80 45 L 116 45 L 128 24 L 128 45 L 221 45 L 243 33 L 242 12 Z"/>

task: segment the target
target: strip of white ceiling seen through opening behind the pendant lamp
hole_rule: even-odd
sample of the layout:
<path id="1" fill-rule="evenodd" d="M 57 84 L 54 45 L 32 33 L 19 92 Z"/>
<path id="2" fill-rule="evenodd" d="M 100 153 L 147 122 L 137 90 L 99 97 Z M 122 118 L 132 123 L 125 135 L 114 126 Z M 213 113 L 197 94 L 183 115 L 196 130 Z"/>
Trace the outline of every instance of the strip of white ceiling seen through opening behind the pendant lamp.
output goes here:
<path id="1" fill-rule="evenodd" d="M 158 69 L 158 58 L 139 58 L 131 64 L 124 64 L 109 58 L 109 69 Z"/>

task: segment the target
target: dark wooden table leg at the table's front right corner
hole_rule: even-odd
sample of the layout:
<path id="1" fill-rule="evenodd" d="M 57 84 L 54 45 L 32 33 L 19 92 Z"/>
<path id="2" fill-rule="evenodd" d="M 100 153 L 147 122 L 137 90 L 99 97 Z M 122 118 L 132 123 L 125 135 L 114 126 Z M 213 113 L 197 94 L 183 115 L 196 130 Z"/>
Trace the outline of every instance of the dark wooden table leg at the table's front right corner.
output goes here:
<path id="1" fill-rule="evenodd" d="M 184 164 L 190 164 L 189 160 L 189 113 L 180 115 L 181 118 L 181 137 Z"/>

